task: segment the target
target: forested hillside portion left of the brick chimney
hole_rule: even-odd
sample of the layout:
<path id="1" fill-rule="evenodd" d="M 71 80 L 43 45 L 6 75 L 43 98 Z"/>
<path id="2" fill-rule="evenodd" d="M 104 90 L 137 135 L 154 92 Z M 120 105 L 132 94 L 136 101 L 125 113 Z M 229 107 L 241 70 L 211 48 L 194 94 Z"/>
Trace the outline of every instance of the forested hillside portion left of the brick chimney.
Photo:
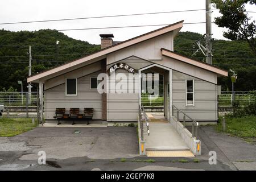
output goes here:
<path id="1" fill-rule="evenodd" d="M 59 59 L 56 40 L 60 41 Z M 35 32 L 0 30 L 0 91 L 10 86 L 19 90 L 20 85 L 17 80 L 27 82 L 29 45 L 32 46 L 32 75 L 100 49 L 98 45 L 69 38 L 56 30 Z M 23 86 L 23 90 L 27 90 L 26 84 Z"/>

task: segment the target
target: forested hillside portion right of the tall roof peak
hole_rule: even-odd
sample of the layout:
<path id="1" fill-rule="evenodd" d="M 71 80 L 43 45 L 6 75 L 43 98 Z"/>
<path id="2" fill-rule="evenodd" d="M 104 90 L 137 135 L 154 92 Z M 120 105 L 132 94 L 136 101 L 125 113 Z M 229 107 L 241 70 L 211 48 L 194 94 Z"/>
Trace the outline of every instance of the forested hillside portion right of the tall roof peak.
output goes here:
<path id="1" fill-rule="evenodd" d="M 205 56 L 195 44 L 195 41 L 203 35 L 194 32 L 179 32 L 174 39 L 174 51 L 193 57 L 193 59 L 204 61 Z M 202 40 L 203 41 L 203 40 Z M 205 45 L 205 42 L 202 42 Z M 212 63 L 218 68 L 229 71 L 232 69 L 238 75 L 234 84 L 236 91 L 249 91 L 256 89 L 256 55 L 253 54 L 245 41 L 213 40 Z M 222 90 L 232 90 L 232 82 L 229 77 L 219 77 L 218 85 Z"/>

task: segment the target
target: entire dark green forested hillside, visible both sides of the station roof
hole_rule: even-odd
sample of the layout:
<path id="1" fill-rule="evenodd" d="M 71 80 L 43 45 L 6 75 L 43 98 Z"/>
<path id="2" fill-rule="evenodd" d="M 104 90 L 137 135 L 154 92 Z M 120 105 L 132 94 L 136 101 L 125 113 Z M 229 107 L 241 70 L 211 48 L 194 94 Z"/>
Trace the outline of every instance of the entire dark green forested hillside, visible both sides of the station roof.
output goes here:
<path id="1" fill-rule="evenodd" d="M 95 35 L 97 36 L 97 35 Z M 180 32 L 175 38 L 175 51 L 197 60 L 204 61 L 204 55 L 196 52 L 195 40 L 203 35 L 193 32 Z M 57 57 L 56 40 L 59 40 Z M 56 30 L 36 32 L 10 32 L 0 30 L 0 91 L 12 86 L 20 90 L 18 80 L 26 82 L 28 75 L 28 46 L 32 46 L 32 74 L 44 69 L 77 59 L 100 49 L 99 45 L 69 38 Z M 214 40 L 213 64 L 217 67 L 238 73 L 236 90 L 254 90 L 256 88 L 256 56 L 246 42 Z M 221 77 L 218 84 L 222 90 L 231 89 L 230 77 Z M 23 89 L 27 90 L 26 84 Z"/>

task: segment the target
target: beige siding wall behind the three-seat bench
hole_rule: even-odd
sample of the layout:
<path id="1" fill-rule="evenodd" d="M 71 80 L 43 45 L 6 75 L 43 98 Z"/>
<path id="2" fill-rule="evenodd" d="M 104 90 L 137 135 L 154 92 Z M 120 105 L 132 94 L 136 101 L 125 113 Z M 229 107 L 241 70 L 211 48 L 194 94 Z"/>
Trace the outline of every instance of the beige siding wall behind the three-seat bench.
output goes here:
<path id="1" fill-rule="evenodd" d="M 73 75 L 76 75 L 75 72 Z M 53 119 L 57 107 L 65 107 L 66 113 L 69 113 L 69 108 L 72 107 L 79 107 L 80 113 L 84 112 L 84 107 L 93 107 L 93 119 L 101 119 L 101 94 L 97 92 L 97 89 L 90 89 L 90 77 L 97 77 L 99 73 L 92 73 L 77 79 L 77 96 L 65 96 L 65 83 L 47 89 L 45 91 L 46 119 Z M 57 81 L 58 78 L 53 79 Z"/>

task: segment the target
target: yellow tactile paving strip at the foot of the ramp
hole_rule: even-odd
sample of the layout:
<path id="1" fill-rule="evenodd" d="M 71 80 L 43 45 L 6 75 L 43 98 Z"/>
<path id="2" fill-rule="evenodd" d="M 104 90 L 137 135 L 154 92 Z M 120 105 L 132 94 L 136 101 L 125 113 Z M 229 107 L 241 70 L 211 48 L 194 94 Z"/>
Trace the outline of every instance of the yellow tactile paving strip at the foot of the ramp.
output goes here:
<path id="1" fill-rule="evenodd" d="M 189 150 L 146 151 L 148 157 L 195 157 Z"/>

